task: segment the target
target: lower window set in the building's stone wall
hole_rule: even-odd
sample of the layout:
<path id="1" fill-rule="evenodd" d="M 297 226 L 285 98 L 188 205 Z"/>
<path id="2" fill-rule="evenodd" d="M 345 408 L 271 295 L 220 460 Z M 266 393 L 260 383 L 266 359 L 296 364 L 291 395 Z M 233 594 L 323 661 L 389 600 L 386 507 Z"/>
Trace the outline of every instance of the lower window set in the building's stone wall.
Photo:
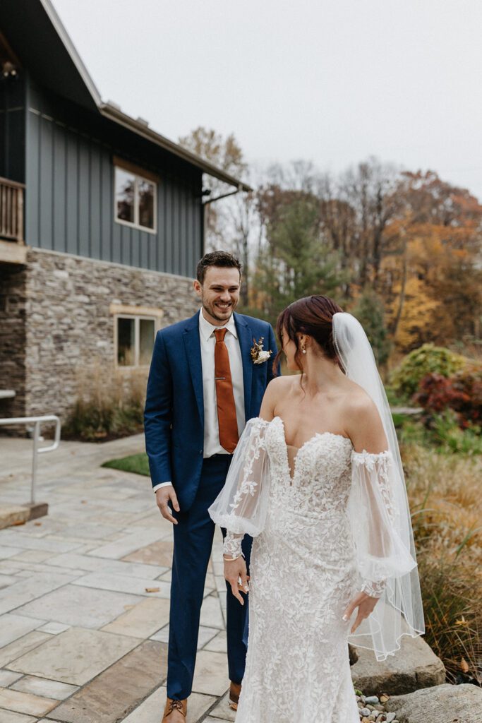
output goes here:
<path id="1" fill-rule="evenodd" d="M 116 317 L 116 361 L 119 367 L 145 367 L 150 364 L 155 332 L 155 319 Z"/>

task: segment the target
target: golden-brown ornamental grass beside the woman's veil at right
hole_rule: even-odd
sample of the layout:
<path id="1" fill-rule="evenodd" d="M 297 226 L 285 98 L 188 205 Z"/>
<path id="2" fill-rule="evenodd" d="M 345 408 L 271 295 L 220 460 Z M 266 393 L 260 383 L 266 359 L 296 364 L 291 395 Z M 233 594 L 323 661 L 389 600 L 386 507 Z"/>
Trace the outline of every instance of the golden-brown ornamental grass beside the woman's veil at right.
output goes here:
<path id="1" fill-rule="evenodd" d="M 403 445 L 426 642 L 449 683 L 482 683 L 482 458 Z"/>

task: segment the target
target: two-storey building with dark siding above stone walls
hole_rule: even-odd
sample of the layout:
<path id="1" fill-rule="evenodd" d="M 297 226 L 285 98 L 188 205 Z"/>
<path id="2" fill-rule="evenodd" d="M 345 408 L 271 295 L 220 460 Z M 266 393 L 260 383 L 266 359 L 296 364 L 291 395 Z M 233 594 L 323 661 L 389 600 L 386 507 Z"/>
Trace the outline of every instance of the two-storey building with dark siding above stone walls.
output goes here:
<path id="1" fill-rule="evenodd" d="M 197 309 L 203 174 L 249 187 L 103 103 L 49 0 L 2 0 L 0 68 L 0 416 L 65 416 Z"/>

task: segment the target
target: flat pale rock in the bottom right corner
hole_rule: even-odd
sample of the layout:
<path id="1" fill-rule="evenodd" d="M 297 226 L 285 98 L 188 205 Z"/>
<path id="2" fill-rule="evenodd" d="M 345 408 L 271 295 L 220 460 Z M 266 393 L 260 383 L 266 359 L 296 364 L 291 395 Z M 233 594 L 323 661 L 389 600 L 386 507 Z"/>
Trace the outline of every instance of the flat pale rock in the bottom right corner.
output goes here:
<path id="1" fill-rule="evenodd" d="M 393 696 L 385 707 L 400 723 L 481 723 L 482 688 L 445 683 Z"/>

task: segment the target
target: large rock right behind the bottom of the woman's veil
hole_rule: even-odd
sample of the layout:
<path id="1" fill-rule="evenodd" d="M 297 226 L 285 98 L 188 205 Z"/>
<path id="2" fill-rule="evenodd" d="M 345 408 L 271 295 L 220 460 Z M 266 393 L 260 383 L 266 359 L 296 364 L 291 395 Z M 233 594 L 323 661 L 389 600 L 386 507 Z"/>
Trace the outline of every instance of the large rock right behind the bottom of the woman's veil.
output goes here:
<path id="1" fill-rule="evenodd" d="M 445 681 L 445 668 L 422 638 L 403 636 L 400 650 L 384 662 L 378 662 L 373 651 L 358 648 L 358 661 L 351 667 L 351 677 L 355 687 L 365 695 L 382 690 L 401 695 L 441 685 Z"/>

